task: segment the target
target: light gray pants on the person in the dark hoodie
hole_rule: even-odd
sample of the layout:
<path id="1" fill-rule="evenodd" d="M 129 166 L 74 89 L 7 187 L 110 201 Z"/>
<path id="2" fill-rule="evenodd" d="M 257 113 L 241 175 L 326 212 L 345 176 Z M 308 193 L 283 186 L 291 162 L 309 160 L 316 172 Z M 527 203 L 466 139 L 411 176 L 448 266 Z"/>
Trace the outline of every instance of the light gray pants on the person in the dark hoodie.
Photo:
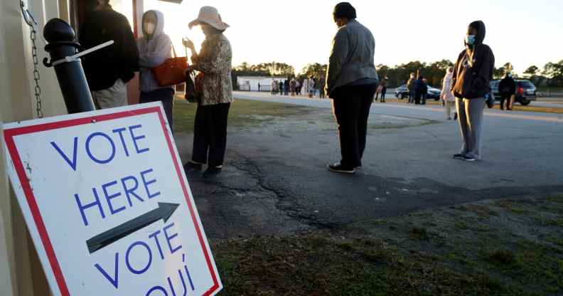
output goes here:
<path id="1" fill-rule="evenodd" d="M 460 153 L 476 159 L 481 159 L 481 135 L 483 134 L 485 105 L 486 102 L 483 97 L 471 100 L 456 98 L 459 127 L 461 137 L 463 137 L 463 146 Z"/>

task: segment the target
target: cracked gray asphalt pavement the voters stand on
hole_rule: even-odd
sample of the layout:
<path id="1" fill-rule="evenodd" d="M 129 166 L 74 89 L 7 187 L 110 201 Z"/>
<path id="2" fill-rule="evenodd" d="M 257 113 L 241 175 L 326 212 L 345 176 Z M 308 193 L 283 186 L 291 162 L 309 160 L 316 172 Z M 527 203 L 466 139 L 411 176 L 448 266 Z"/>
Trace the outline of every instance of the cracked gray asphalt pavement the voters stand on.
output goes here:
<path id="1" fill-rule="evenodd" d="M 487 116 L 484 160 L 465 163 L 451 159 L 459 129 L 441 112 L 374 104 L 364 167 L 345 176 L 326 170 L 340 158 L 323 104 L 306 119 L 229 129 L 223 173 L 188 172 L 209 238 L 338 231 L 422 209 L 563 192 L 563 122 Z M 176 134 L 184 161 L 191 142 Z"/>

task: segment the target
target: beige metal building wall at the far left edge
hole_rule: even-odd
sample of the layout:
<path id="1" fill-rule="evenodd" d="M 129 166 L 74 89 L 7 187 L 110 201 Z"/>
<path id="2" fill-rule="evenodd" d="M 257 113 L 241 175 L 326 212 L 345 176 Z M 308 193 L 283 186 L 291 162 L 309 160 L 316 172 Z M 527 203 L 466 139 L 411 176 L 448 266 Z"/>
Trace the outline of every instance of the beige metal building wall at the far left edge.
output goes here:
<path id="1" fill-rule="evenodd" d="M 41 63 L 46 56 L 41 28 L 50 18 L 68 19 L 67 1 L 24 2 L 38 22 L 37 48 L 38 60 Z M 61 8 L 62 11 L 67 11 L 63 15 L 59 12 Z M 21 16 L 18 1 L 0 1 L 0 132 L 2 122 L 30 120 L 36 117 L 30 32 Z M 40 64 L 39 71 L 44 115 L 64 114 L 65 105 L 54 70 Z M 1 245 L 6 246 L 7 258 L 0 258 L 0 271 L 9 272 L 11 285 L 0 285 L 0 295 L 49 295 L 43 269 L 5 174 L 6 156 L 3 143 L 3 140 L 0 141 L 0 225 L 4 227 L 5 238 L 0 238 L 0 249 Z M 3 253 L 0 253 L 0 257 L 4 257 Z"/>

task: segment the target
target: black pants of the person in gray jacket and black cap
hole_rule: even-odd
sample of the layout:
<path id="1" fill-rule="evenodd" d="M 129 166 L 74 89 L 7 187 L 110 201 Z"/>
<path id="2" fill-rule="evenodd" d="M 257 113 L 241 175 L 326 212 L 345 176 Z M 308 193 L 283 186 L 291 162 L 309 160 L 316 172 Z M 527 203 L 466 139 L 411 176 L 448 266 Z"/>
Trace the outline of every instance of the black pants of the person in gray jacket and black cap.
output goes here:
<path id="1" fill-rule="evenodd" d="M 368 117 L 377 84 L 342 86 L 334 90 L 333 111 L 340 136 L 341 164 L 355 168 L 362 165 Z"/>

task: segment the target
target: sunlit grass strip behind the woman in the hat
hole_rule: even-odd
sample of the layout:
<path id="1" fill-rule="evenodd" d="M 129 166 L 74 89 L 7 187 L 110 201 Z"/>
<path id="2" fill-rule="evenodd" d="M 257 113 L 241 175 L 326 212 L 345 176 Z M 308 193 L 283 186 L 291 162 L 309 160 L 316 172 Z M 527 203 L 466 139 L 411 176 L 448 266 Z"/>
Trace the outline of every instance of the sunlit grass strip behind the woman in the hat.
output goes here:
<path id="1" fill-rule="evenodd" d="M 174 130 L 193 133 L 195 104 L 177 99 L 174 102 Z M 235 100 L 229 110 L 229 127 L 260 125 L 270 120 L 291 115 L 306 115 L 311 108 L 277 102 L 259 102 L 253 100 Z"/>

